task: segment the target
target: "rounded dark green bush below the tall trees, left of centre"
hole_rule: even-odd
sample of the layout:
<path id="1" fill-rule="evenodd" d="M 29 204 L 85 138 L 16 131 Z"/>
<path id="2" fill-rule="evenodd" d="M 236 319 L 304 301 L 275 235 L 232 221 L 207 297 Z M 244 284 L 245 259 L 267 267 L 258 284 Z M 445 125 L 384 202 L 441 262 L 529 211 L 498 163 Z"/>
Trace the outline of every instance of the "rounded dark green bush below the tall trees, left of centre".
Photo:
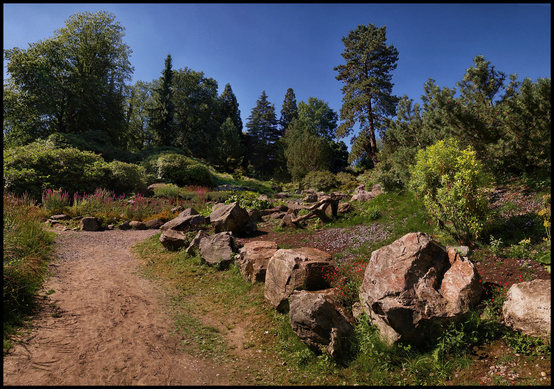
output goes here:
<path id="1" fill-rule="evenodd" d="M 155 162 L 154 162 L 155 161 Z M 176 153 L 163 153 L 149 162 L 155 169 L 157 180 L 177 186 L 200 185 L 214 187 L 212 175 L 206 165 Z"/>

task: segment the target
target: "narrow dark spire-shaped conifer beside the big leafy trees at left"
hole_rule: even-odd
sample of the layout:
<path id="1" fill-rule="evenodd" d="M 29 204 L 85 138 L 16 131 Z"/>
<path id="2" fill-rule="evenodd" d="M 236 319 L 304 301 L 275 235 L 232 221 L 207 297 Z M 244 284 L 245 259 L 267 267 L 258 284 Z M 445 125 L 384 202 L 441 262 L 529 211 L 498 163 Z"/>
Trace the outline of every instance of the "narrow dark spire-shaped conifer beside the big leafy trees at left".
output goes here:
<path id="1" fill-rule="evenodd" d="M 150 110 L 148 127 L 153 132 L 156 146 L 171 146 L 173 141 L 173 70 L 171 54 L 167 54 L 166 67 L 162 71 L 160 86 L 154 91 L 153 107 Z"/>

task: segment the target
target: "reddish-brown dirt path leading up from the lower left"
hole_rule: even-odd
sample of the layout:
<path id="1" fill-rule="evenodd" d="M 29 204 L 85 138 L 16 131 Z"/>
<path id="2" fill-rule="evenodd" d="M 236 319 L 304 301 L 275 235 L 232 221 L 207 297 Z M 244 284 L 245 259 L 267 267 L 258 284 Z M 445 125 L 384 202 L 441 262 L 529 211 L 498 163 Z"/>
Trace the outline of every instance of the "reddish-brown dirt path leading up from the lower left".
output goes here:
<path id="1" fill-rule="evenodd" d="M 55 292 L 4 357 L 4 385 L 244 383 L 232 366 L 176 350 L 157 285 L 136 274 L 129 252 L 156 232 L 59 232 L 42 294 Z"/>

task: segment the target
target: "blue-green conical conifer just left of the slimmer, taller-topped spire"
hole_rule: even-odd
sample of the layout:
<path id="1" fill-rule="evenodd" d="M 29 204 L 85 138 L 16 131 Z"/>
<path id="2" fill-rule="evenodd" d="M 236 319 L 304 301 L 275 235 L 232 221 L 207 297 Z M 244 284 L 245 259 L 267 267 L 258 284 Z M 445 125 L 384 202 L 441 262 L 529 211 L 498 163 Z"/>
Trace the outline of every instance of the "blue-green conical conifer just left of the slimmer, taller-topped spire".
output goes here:
<path id="1" fill-rule="evenodd" d="M 271 175 L 278 158 L 279 130 L 275 105 L 269 103 L 265 90 L 248 116 L 249 168 L 261 178 Z"/>

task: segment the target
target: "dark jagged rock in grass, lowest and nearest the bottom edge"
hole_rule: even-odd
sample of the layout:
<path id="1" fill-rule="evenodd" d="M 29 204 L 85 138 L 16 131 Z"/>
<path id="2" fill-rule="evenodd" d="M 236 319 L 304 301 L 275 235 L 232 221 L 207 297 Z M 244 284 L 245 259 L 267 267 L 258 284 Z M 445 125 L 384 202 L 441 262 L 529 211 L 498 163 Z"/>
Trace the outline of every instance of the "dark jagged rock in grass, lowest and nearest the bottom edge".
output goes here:
<path id="1" fill-rule="evenodd" d="M 338 308 L 333 290 L 295 290 L 289 300 L 290 325 L 300 340 L 342 361 L 348 351 L 343 340 L 352 334 L 353 327 Z"/>

